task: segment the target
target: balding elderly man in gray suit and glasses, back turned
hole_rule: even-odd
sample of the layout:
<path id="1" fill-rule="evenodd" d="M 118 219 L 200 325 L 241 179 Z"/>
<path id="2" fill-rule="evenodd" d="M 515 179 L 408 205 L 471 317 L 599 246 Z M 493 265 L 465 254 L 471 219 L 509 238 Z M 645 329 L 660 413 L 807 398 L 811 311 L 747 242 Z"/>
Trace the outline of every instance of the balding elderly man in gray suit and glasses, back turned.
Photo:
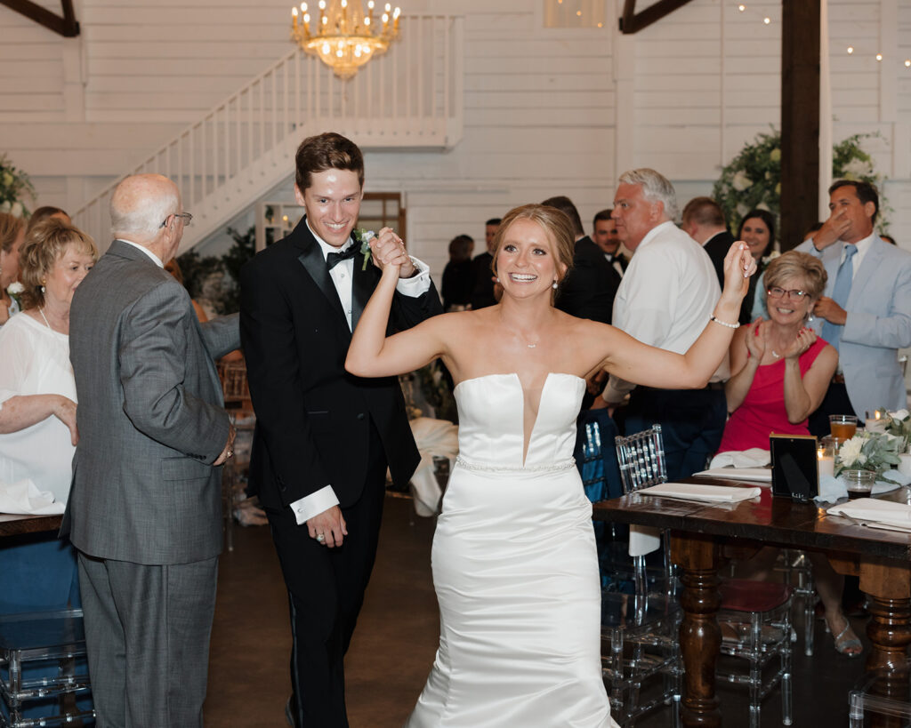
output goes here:
<path id="1" fill-rule="evenodd" d="M 128 177 L 116 238 L 73 298 L 79 443 L 63 534 L 79 551 L 99 728 L 202 726 L 234 430 L 213 359 L 237 317 L 200 326 L 163 270 L 191 216 L 166 177 Z"/>

